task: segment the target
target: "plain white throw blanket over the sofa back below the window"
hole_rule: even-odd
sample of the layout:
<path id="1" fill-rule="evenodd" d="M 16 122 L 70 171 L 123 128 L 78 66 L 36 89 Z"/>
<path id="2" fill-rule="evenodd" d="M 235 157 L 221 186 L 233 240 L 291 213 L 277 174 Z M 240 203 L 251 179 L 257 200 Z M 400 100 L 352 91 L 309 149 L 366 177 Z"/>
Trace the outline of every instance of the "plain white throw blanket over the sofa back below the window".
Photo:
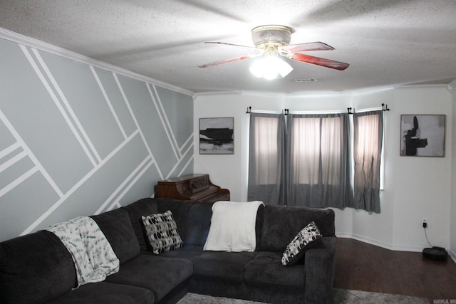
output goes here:
<path id="1" fill-rule="evenodd" d="M 211 226 L 204 251 L 255 250 L 255 221 L 262 201 L 216 201 L 212 205 Z"/>

